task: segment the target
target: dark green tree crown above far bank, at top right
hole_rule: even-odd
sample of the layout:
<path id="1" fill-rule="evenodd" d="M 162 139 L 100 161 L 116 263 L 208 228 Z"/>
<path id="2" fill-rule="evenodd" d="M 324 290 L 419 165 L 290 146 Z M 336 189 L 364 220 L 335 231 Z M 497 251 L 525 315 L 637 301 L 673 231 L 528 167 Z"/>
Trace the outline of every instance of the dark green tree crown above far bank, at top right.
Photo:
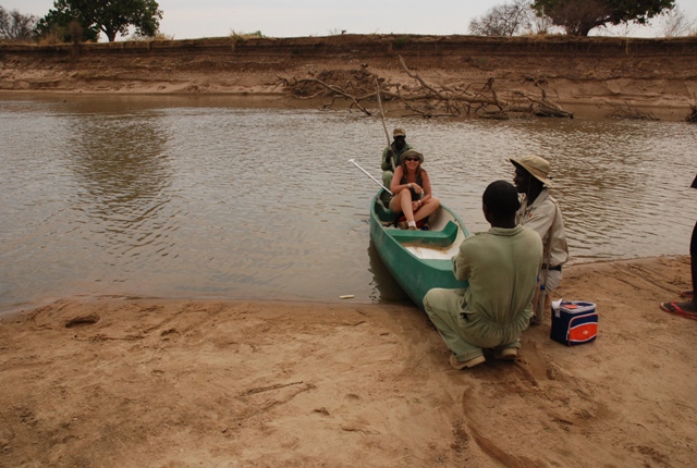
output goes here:
<path id="1" fill-rule="evenodd" d="M 649 19 L 675 7 L 675 0 L 535 0 L 533 9 L 547 15 L 567 34 L 588 36 L 606 24 L 646 24 Z"/>

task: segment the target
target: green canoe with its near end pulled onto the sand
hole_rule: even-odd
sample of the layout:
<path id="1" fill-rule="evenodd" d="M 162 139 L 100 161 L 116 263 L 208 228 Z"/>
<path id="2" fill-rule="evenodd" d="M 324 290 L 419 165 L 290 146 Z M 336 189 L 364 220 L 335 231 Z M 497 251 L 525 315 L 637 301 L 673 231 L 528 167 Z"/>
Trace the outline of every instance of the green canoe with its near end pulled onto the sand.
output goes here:
<path id="1" fill-rule="evenodd" d="M 370 238 L 380 259 L 402 290 L 421 310 L 424 296 L 433 287 L 467 287 L 455 280 L 451 258 L 469 236 L 462 220 L 442 204 L 428 223 L 429 231 L 406 231 L 393 226 L 395 214 L 380 200 L 370 202 Z"/>

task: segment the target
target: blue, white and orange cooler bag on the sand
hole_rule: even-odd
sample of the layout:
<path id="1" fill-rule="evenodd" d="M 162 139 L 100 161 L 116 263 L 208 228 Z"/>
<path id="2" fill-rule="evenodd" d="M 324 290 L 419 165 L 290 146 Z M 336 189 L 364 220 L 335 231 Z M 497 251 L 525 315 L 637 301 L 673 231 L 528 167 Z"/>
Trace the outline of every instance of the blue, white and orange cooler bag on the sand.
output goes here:
<path id="1" fill-rule="evenodd" d="M 598 335 L 596 305 L 583 300 L 552 303 L 550 337 L 567 346 L 590 343 Z"/>

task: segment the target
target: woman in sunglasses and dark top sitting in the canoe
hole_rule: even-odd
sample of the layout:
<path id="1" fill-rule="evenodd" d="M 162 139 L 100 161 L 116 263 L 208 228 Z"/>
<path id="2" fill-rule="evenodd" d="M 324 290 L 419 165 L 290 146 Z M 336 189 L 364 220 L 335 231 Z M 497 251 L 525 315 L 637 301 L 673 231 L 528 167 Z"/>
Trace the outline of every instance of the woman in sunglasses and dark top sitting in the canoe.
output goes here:
<path id="1" fill-rule="evenodd" d="M 406 221 L 401 229 L 416 230 L 416 223 L 427 219 L 440 206 L 440 200 L 431 195 L 431 182 L 421 163 L 424 155 L 413 149 L 402 155 L 402 164 L 394 171 L 390 192 L 390 211 L 403 213 Z"/>

